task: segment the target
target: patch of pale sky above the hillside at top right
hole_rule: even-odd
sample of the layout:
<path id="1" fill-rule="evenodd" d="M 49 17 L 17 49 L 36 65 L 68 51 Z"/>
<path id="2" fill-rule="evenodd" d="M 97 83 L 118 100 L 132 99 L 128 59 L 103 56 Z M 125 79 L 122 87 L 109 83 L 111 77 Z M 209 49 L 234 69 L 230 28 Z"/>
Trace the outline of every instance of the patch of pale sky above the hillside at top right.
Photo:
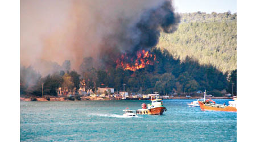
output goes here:
<path id="1" fill-rule="evenodd" d="M 236 0 L 174 0 L 176 12 L 237 12 Z"/>

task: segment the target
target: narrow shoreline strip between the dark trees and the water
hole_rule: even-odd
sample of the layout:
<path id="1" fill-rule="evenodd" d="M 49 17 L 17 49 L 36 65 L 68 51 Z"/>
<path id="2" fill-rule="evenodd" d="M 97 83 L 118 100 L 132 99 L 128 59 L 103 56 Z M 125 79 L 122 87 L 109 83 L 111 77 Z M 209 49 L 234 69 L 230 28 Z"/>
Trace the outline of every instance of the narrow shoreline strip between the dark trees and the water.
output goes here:
<path id="1" fill-rule="evenodd" d="M 203 97 L 172 97 L 168 99 L 202 99 Z M 233 97 L 206 97 L 206 99 L 233 99 Z M 122 101 L 122 100 L 150 100 L 150 99 L 143 99 L 143 98 L 127 98 L 127 99 L 117 99 L 117 98 L 108 98 L 108 97 L 89 97 L 89 96 L 83 96 L 81 97 L 81 100 L 74 99 L 70 100 L 67 99 L 67 97 L 52 97 L 52 98 L 23 98 L 20 97 L 20 102 L 32 102 L 32 101 L 38 101 L 38 102 L 56 102 L 56 101 Z M 166 99 L 163 99 L 166 100 Z"/>

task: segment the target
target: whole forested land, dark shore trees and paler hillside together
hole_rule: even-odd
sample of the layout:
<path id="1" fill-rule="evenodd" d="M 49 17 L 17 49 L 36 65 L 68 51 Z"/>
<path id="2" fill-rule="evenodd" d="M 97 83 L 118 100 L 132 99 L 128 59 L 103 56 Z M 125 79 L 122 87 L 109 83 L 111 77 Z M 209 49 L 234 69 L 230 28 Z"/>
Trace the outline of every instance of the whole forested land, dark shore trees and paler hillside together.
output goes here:
<path id="1" fill-rule="evenodd" d="M 20 95 L 57 95 L 59 87 L 79 90 L 84 80 L 86 89 L 113 87 L 142 94 L 158 91 L 191 93 L 207 89 L 214 96 L 222 90 L 236 94 L 236 14 L 225 12 L 180 14 L 181 23 L 173 34 L 160 36 L 154 64 L 135 71 L 125 70 L 114 62 L 106 68 L 94 67 L 94 59 L 85 57 L 79 70 L 71 70 L 71 61 L 57 65 L 55 73 L 42 77 L 31 66 L 20 66 Z M 55 65 L 56 67 L 56 65 Z"/>

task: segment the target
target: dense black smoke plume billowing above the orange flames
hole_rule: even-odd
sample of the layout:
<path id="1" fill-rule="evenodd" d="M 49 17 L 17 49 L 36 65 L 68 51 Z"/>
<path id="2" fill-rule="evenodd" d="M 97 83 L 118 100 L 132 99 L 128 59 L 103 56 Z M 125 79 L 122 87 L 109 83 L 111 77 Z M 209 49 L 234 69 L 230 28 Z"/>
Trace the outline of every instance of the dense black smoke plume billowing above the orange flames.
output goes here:
<path id="1" fill-rule="evenodd" d="M 106 35 L 102 44 L 101 60 L 113 62 L 122 54 L 133 59 L 142 49 L 149 51 L 158 44 L 160 32 L 171 33 L 177 28 L 180 16 L 175 14 L 171 1 L 144 10 L 140 18 L 131 24 L 129 19 L 119 19 L 115 33 Z"/>

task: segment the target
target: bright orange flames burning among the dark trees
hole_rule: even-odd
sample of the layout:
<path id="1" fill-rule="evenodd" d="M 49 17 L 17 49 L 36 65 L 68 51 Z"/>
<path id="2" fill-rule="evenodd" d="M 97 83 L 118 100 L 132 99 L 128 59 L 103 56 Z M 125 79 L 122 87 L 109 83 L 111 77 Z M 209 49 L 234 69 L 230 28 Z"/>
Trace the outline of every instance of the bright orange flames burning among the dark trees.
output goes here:
<path id="1" fill-rule="evenodd" d="M 156 59 L 156 55 L 154 55 L 154 59 L 152 59 L 153 55 L 149 53 L 148 51 L 139 51 L 137 52 L 137 59 L 135 61 L 131 59 L 131 61 L 134 61 L 134 64 L 129 64 L 124 61 L 124 59 L 128 59 L 128 56 L 122 55 L 120 59 L 117 59 L 115 63 L 117 63 L 117 67 L 121 66 L 125 70 L 132 70 L 135 71 L 137 69 L 145 68 L 146 65 L 153 65 L 154 61 Z"/>

